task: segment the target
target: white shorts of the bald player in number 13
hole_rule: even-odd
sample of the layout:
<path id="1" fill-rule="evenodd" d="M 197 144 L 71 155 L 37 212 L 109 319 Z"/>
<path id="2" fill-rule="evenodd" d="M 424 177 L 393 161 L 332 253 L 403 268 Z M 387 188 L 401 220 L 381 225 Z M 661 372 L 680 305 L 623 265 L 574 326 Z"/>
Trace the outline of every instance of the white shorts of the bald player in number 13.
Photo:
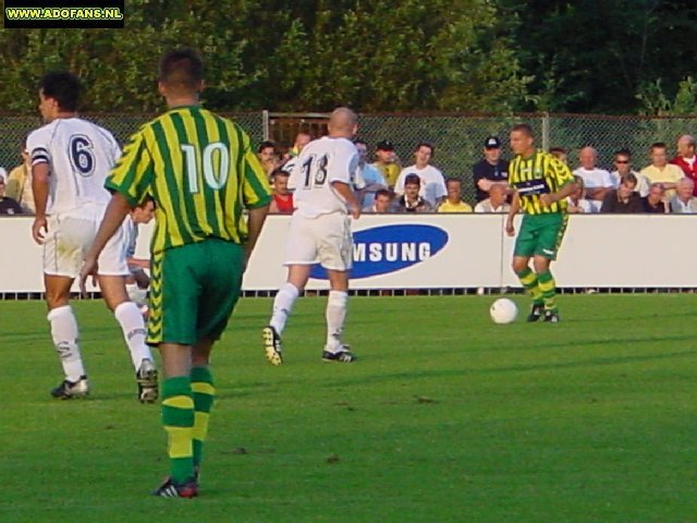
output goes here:
<path id="1" fill-rule="evenodd" d="M 342 212 L 291 218 L 284 265 L 319 264 L 329 270 L 350 270 L 353 239 L 351 219 Z"/>

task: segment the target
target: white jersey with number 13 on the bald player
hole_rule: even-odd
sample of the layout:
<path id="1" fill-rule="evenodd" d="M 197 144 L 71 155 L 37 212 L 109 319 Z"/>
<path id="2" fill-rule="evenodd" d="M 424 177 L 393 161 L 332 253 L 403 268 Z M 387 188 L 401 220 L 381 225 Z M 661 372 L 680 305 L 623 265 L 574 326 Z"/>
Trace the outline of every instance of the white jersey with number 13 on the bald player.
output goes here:
<path id="1" fill-rule="evenodd" d="M 331 186 L 332 182 L 352 185 L 358 166 L 358 151 L 346 138 L 315 139 L 295 159 L 289 188 L 295 188 L 296 212 L 316 218 L 332 212 L 346 214 L 346 202 Z"/>

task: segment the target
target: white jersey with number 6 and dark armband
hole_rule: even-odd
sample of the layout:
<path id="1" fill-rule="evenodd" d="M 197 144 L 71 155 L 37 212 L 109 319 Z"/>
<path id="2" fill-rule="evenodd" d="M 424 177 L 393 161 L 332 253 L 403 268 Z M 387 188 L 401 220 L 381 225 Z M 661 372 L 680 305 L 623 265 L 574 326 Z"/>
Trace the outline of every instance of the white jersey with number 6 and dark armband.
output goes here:
<path id="1" fill-rule="evenodd" d="M 80 118 L 59 118 L 27 137 L 32 165 L 48 163 L 47 214 L 81 214 L 84 206 L 106 206 L 105 180 L 121 149 L 112 134 Z"/>

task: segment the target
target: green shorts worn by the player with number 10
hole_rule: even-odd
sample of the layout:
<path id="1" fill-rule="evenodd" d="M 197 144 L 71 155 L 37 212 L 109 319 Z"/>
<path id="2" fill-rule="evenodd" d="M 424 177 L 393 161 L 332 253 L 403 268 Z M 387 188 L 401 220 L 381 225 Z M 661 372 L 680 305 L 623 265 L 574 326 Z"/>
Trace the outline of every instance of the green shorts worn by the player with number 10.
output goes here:
<path id="1" fill-rule="evenodd" d="M 244 251 L 218 239 L 154 255 L 147 342 L 217 340 L 240 299 Z"/>

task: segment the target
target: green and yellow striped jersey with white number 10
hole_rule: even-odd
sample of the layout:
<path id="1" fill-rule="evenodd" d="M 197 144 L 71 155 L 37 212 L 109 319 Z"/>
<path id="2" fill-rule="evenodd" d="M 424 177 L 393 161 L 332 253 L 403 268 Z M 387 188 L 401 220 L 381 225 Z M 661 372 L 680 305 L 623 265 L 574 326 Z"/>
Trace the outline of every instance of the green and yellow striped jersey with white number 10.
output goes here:
<path id="1" fill-rule="evenodd" d="M 143 125 L 105 186 L 132 206 L 154 197 L 152 253 L 211 236 L 244 243 L 243 209 L 271 200 L 247 134 L 197 106 L 173 108 Z"/>

